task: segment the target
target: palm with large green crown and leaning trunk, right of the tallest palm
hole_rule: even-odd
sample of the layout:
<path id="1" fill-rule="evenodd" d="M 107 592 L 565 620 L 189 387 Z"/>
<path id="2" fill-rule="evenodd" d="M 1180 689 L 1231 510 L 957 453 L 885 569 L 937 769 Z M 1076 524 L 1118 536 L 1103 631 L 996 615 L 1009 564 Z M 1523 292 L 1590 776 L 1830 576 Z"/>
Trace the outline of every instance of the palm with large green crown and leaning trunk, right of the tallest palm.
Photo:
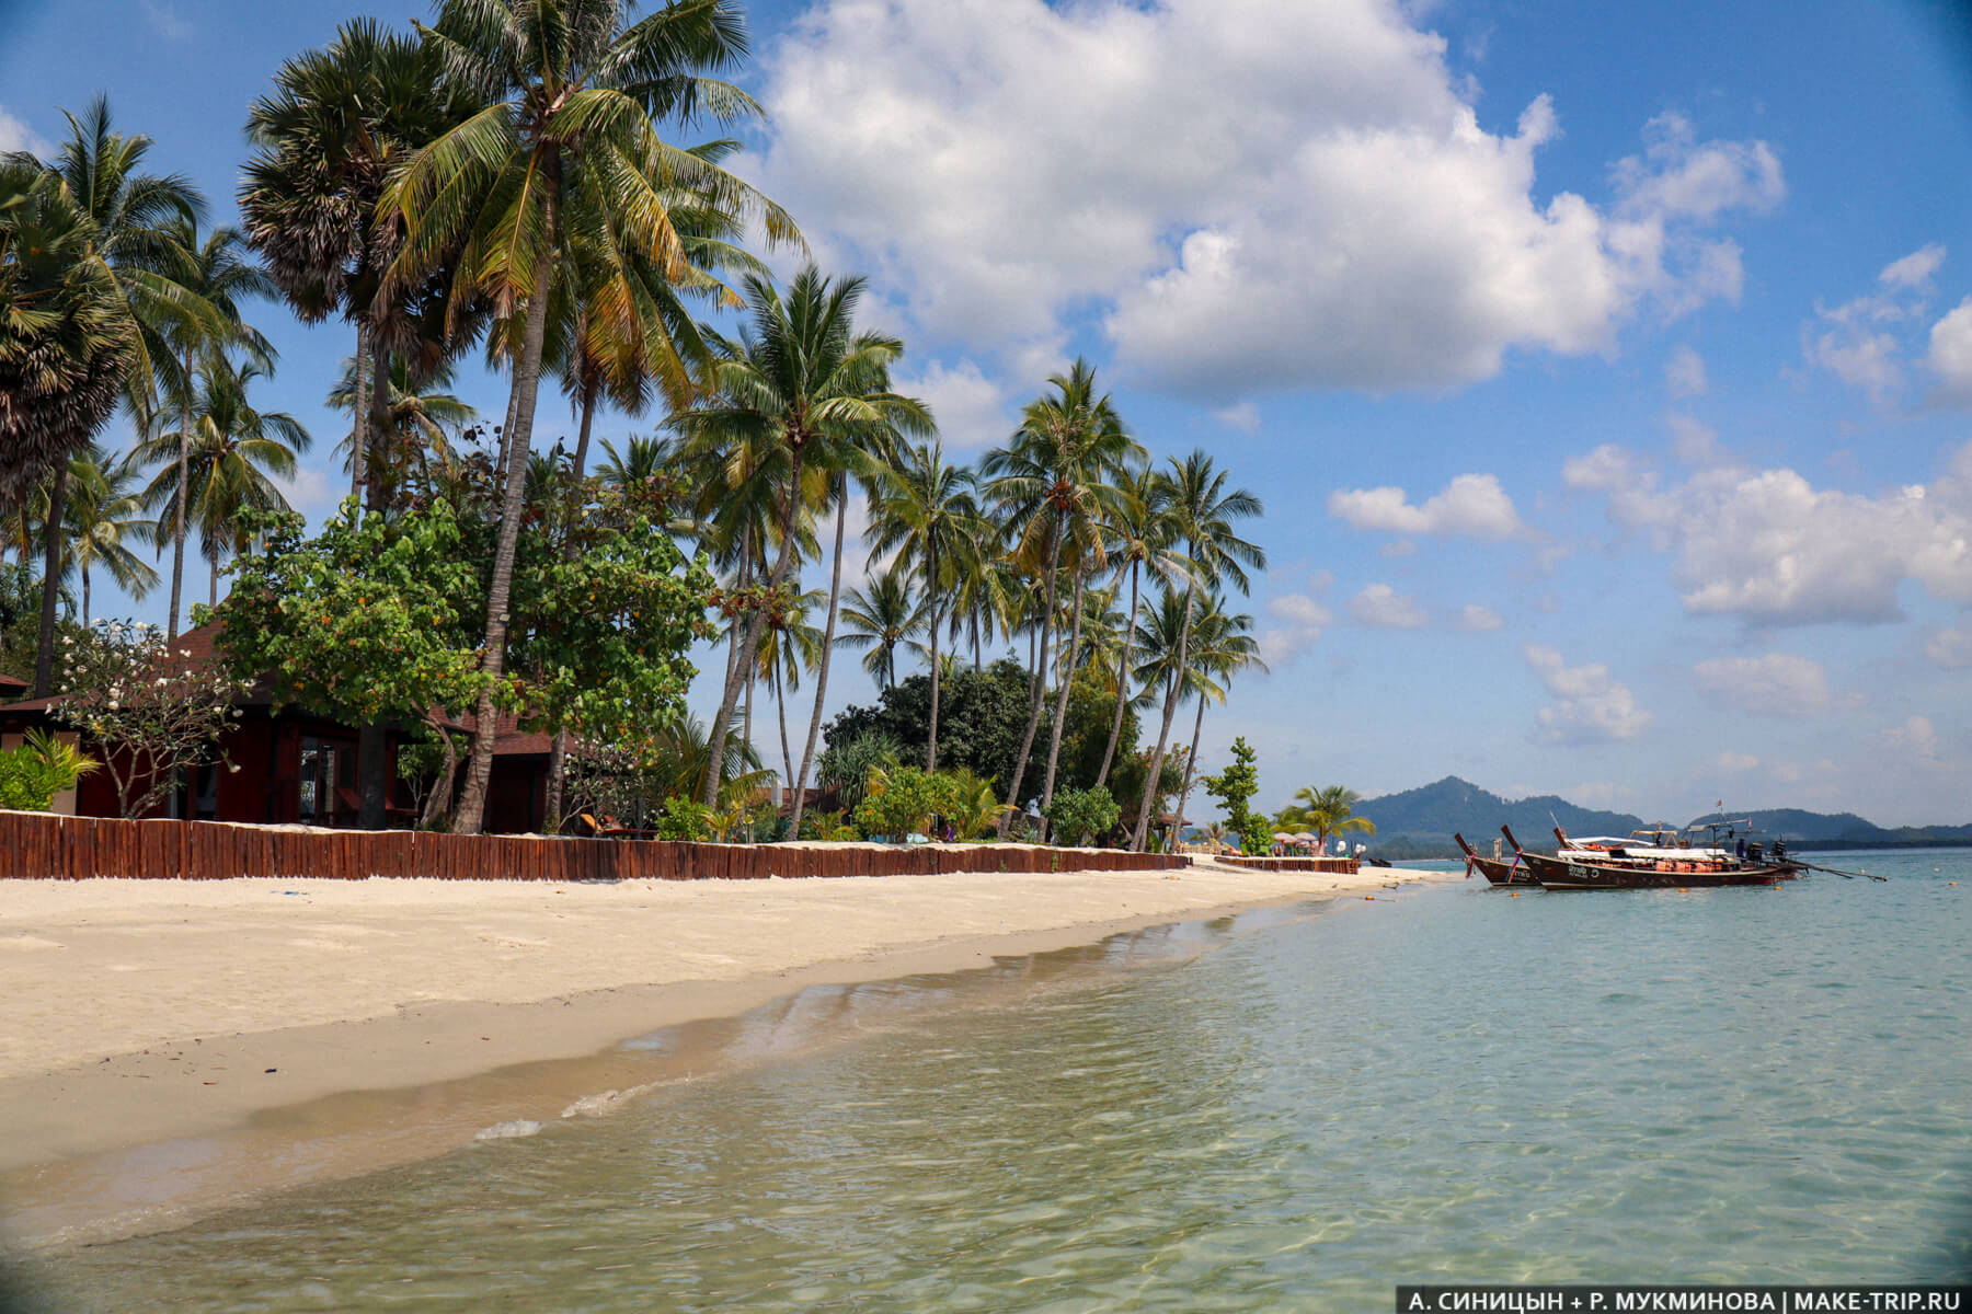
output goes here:
<path id="1" fill-rule="evenodd" d="M 826 496 L 830 473 L 852 469 L 858 453 L 887 443 L 895 433 L 929 435 L 933 422 L 923 402 L 889 388 L 889 366 L 903 355 L 903 343 L 854 331 L 864 280 L 830 286 L 820 270 L 809 266 L 795 276 L 785 301 L 763 278 L 747 276 L 745 286 L 753 303 L 751 331 L 738 343 L 726 343 L 714 362 L 714 400 L 678 416 L 676 424 L 698 447 L 761 453 L 759 469 L 775 485 L 781 522 L 779 554 L 765 579 L 773 593 L 793 567 L 797 522 L 810 500 Z M 812 498 L 805 483 L 810 469 L 820 477 Z M 761 615 L 755 611 L 720 695 L 714 739 L 732 723 L 741 684 L 757 660 L 759 636 Z M 710 786 L 704 802 L 710 804 Z"/>

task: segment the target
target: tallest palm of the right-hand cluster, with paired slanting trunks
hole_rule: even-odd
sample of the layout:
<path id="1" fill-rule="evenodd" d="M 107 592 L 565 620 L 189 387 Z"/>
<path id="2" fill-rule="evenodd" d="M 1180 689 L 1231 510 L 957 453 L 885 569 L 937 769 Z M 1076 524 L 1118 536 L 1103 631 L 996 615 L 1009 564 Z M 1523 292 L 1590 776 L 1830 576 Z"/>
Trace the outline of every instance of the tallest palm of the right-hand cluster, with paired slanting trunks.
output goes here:
<path id="1" fill-rule="evenodd" d="M 1045 611 L 1041 621 L 1041 662 L 1029 697 L 1027 733 L 1008 786 L 1010 804 L 1018 802 L 1020 782 L 1027 770 L 1027 755 L 1041 721 L 1041 691 L 1045 686 L 1047 640 L 1055 619 L 1055 575 L 1063 559 L 1075 577 L 1067 662 L 1059 664 L 1055 691 L 1055 723 L 1047 741 L 1047 774 L 1041 786 L 1041 810 L 1055 798 L 1055 764 L 1061 758 L 1061 731 L 1069 711 L 1069 680 L 1081 658 L 1083 587 L 1092 571 L 1106 563 L 1100 524 L 1114 514 L 1116 487 L 1110 483 L 1142 447 L 1122 427 L 1106 394 L 1096 396 L 1094 366 L 1077 359 L 1067 374 L 1049 380 L 1053 396 L 1041 396 L 1021 410 L 1014 441 L 990 451 L 980 473 L 990 479 L 988 491 L 1020 526 L 1016 554 L 1033 565 L 1045 561 L 1041 575 Z"/>

